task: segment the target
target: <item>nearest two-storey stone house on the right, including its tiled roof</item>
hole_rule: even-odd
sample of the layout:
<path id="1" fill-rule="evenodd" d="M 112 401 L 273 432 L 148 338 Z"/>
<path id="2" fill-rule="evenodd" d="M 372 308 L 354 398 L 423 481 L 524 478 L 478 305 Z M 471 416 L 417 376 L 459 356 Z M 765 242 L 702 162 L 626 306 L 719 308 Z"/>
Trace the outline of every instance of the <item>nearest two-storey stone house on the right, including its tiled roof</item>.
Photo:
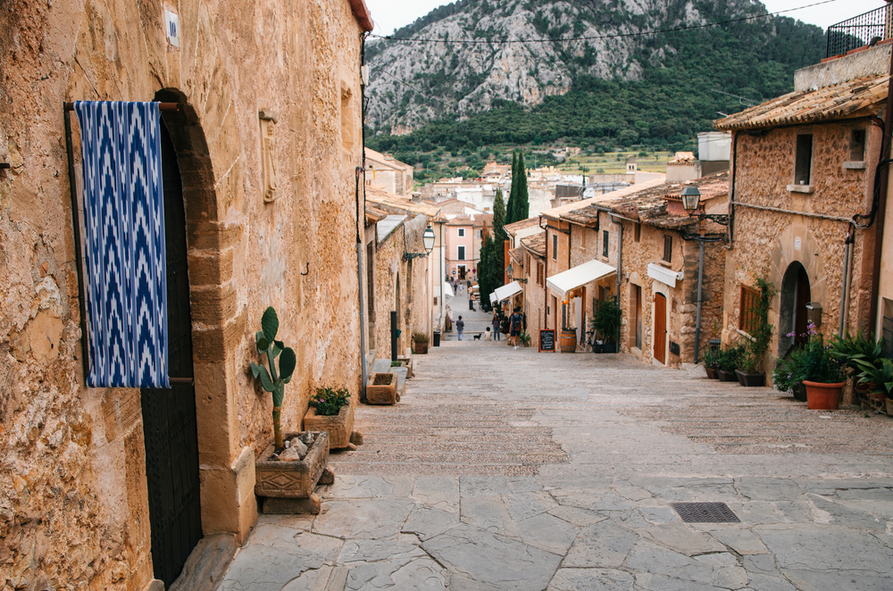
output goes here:
<path id="1" fill-rule="evenodd" d="M 802 340 L 811 313 L 826 336 L 869 329 L 889 53 L 880 46 L 797 71 L 793 93 L 715 123 L 733 137 L 722 339 L 739 336 L 745 288 L 768 279 L 777 295 L 767 371 Z"/>

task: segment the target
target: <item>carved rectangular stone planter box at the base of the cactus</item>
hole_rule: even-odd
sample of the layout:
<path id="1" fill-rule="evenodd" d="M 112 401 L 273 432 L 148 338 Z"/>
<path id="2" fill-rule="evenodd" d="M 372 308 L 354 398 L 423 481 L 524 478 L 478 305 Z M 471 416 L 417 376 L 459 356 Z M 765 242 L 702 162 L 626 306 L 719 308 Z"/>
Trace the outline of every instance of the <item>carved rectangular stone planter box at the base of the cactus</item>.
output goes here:
<path id="1" fill-rule="evenodd" d="M 286 433 L 283 437 L 291 439 L 297 435 Z M 329 434 L 321 431 L 313 436 L 313 444 L 300 462 L 271 460 L 275 446 L 267 445 L 255 462 L 255 495 L 287 499 L 305 499 L 313 495 L 313 488 L 329 462 Z"/>

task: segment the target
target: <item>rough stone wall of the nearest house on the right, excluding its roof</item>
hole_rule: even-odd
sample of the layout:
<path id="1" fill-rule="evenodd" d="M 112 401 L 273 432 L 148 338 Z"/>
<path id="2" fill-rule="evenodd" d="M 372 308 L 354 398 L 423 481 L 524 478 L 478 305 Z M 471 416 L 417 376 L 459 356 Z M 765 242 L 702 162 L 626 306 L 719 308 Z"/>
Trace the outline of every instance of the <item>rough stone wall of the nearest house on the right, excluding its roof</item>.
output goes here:
<path id="1" fill-rule="evenodd" d="M 866 129 L 865 169 L 845 170 L 850 160 L 850 130 Z M 774 129 L 764 137 L 739 133 L 738 171 L 734 178 L 736 203 L 772 206 L 796 212 L 814 212 L 851 218 L 870 212 L 874 164 L 878 161 L 880 129 L 868 121 L 812 126 L 814 193 L 788 190 L 793 183 L 797 132 L 808 128 Z M 810 299 L 822 304 L 822 332 L 836 334 L 839 327 L 844 240 L 852 226 L 783 212 L 766 212 L 735 206 L 733 248 L 725 273 L 723 342 L 738 337 L 740 286 L 753 285 L 762 276 L 781 289 L 785 271 L 800 262 L 809 276 Z M 850 304 L 846 329 L 867 329 L 871 294 L 874 228 L 856 229 Z M 869 253 L 866 255 L 866 253 Z M 772 302 L 769 321 L 776 335 L 770 354 L 777 354 L 780 298 Z M 767 369 L 771 369 L 772 357 Z"/>

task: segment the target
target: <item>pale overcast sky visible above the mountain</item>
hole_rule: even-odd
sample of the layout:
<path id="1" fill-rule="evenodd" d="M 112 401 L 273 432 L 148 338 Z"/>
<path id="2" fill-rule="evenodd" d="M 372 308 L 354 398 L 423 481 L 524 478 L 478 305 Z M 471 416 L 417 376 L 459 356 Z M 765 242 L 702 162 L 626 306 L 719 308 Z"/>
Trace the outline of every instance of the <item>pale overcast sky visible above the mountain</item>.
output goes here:
<path id="1" fill-rule="evenodd" d="M 815 1 L 764 0 L 764 4 L 769 12 L 776 12 L 805 4 L 814 4 Z M 394 32 L 394 29 L 410 24 L 442 4 L 449 4 L 449 2 L 445 0 L 366 0 L 366 5 L 369 6 L 369 11 L 372 13 L 372 20 L 375 21 L 373 32 L 379 35 L 389 35 Z M 884 0 L 835 0 L 830 4 L 787 12 L 785 16 L 827 29 L 829 25 L 846 21 L 857 14 L 880 8 L 885 4 Z"/>

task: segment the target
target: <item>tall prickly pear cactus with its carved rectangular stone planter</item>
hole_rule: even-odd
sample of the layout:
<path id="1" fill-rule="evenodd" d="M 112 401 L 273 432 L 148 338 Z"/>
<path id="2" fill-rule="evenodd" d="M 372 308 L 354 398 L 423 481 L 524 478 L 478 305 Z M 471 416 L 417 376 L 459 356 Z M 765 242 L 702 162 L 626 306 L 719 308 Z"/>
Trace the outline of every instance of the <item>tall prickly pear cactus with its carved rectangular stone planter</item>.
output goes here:
<path id="1" fill-rule="evenodd" d="M 278 332 L 279 317 L 269 307 L 261 317 L 261 330 L 255 334 L 257 352 L 266 355 L 267 367 L 252 362 L 251 372 L 273 397 L 273 443 L 266 446 L 255 462 L 255 494 L 265 498 L 299 500 L 293 504 L 273 504 L 270 507 L 264 501 L 264 512 L 319 513 L 320 499 L 313 495 L 313 488 L 329 462 L 329 434 L 309 431 L 288 433 L 286 438 L 290 445 L 283 440 L 280 422 L 282 402 L 285 385 L 295 372 L 296 356 L 294 350 L 276 340 Z M 286 454 L 289 447 L 291 451 Z M 302 451 L 297 452 L 298 448 Z"/>

